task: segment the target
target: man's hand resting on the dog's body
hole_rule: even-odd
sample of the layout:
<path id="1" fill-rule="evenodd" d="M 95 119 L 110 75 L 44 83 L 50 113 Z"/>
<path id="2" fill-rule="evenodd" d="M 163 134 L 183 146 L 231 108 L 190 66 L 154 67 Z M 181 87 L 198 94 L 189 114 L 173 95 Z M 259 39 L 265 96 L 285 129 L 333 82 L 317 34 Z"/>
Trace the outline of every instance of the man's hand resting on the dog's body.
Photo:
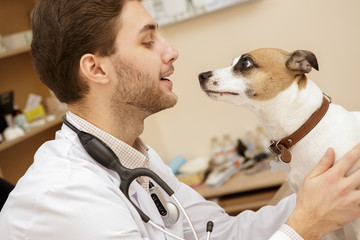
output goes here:
<path id="1" fill-rule="evenodd" d="M 360 144 L 334 164 L 329 148 L 304 179 L 294 212 L 286 224 L 306 240 L 320 239 L 360 217 L 360 170 L 347 176 L 360 159 Z"/>

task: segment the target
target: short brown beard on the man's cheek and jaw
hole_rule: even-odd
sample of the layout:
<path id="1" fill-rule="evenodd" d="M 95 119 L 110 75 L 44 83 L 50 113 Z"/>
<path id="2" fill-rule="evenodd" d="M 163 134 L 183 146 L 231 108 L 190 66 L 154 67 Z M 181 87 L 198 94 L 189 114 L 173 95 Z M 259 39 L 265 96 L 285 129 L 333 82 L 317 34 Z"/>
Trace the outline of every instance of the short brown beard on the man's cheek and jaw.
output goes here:
<path id="1" fill-rule="evenodd" d="M 160 79 L 154 81 L 156 76 L 145 74 L 123 61 L 113 63 L 119 80 L 112 94 L 113 111 L 127 104 L 148 116 L 176 104 L 176 95 L 165 93 L 160 88 Z"/>

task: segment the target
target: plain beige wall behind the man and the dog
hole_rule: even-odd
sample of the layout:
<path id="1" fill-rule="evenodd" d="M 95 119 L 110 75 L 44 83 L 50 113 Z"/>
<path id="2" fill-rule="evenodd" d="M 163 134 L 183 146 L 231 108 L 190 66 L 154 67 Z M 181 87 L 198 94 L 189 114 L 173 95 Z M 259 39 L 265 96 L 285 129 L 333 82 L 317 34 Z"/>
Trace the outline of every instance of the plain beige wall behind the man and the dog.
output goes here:
<path id="1" fill-rule="evenodd" d="M 309 77 L 335 103 L 360 110 L 359 13 L 359 0 L 253 0 L 162 27 L 180 53 L 171 77 L 179 100 L 146 120 L 142 138 L 168 162 L 208 155 L 214 136 L 254 130 L 259 123 L 249 110 L 209 99 L 197 75 L 263 47 L 314 52 L 320 71 Z"/>

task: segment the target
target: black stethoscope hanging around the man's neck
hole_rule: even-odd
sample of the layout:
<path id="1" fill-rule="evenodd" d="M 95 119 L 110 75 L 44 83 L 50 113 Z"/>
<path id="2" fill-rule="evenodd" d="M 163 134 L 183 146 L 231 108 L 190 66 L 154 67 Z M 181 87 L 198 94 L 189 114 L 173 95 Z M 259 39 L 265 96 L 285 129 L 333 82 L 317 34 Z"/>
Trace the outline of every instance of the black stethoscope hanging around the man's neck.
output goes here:
<path id="1" fill-rule="evenodd" d="M 169 235 L 169 236 L 171 236 L 173 238 L 176 238 L 176 239 L 179 239 L 179 240 L 184 240 L 183 238 L 180 238 L 180 237 L 174 235 L 173 233 L 171 233 L 171 232 L 163 229 L 162 227 L 158 226 L 157 224 L 155 224 L 153 221 L 151 221 L 151 219 L 140 208 L 138 208 L 138 206 L 136 206 L 133 203 L 133 201 L 130 200 L 130 197 L 129 197 L 130 184 L 135 179 L 137 179 L 138 177 L 141 177 L 141 176 L 147 176 L 147 177 L 151 178 L 154 182 L 156 182 L 169 195 L 169 197 L 172 197 L 175 200 L 175 202 L 177 203 L 177 205 L 179 206 L 181 211 L 184 213 L 184 215 L 185 215 L 185 217 L 186 217 L 186 219 L 187 219 L 187 221 L 188 221 L 188 223 L 189 223 L 189 225 L 190 225 L 190 227 L 191 227 L 191 229 L 193 231 L 195 239 L 196 240 L 199 239 L 199 237 L 197 236 L 197 233 L 195 231 L 194 225 L 192 224 L 192 222 L 191 222 L 188 214 L 186 213 L 184 207 L 182 206 L 182 204 L 175 197 L 174 191 L 156 173 L 154 173 L 153 171 L 151 171 L 151 170 L 149 170 L 147 168 L 129 169 L 129 168 L 124 167 L 121 164 L 119 158 L 116 156 L 116 154 L 102 140 L 100 140 L 99 138 L 91 135 L 90 133 L 80 131 L 79 129 L 77 129 L 74 125 L 72 125 L 66 119 L 66 116 L 63 117 L 62 121 L 66 126 L 68 126 L 71 130 L 73 130 L 77 134 L 82 146 L 84 147 L 86 152 L 95 161 L 100 163 L 105 168 L 108 168 L 108 169 L 111 169 L 111 170 L 115 171 L 119 175 L 120 180 L 121 180 L 120 181 L 120 190 L 121 190 L 121 192 L 131 202 L 131 204 L 134 206 L 136 211 L 139 213 L 141 219 L 145 223 L 151 224 L 153 227 L 155 227 L 159 231 L 161 231 L 161 232 L 163 232 L 163 233 L 165 233 L 165 234 L 167 234 L 167 235 Z M 156 204 L 156 205 L 158 205 L 158 204 Z M 178 210 L 177 210 L 177 212 L 178 212 Z M 178 219 L 178 216 L 173 217 L 173 219 L 175 219 L 175 222 L 176 222 L 177 219 Z M 211 221 L 209 221 L 208 224 L 207 224 L 207 228 L 206 228 L 206 231 L 208 232 L 208 239 L 209 239 L 210 233 L 212 231 L 212 226 L 213 226 L 213 223 Z"/>

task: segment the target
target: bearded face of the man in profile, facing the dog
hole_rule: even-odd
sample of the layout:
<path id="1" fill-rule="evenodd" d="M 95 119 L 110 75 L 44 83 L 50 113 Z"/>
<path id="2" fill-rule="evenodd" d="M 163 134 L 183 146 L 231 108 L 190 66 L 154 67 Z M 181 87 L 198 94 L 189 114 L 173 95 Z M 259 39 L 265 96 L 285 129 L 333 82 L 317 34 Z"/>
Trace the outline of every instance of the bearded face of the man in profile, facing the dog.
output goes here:
<path id="1" fill-rule="evenodd" d="M 120 16 L 116 53 L 110 57 L 117 79 L 112 95 L 118 103 L 148 114 L 173 107 L 177 96 L 168 79 L 177 51 L 159 34 L 155 20 L 139 1 L 128 1 Z"/>

